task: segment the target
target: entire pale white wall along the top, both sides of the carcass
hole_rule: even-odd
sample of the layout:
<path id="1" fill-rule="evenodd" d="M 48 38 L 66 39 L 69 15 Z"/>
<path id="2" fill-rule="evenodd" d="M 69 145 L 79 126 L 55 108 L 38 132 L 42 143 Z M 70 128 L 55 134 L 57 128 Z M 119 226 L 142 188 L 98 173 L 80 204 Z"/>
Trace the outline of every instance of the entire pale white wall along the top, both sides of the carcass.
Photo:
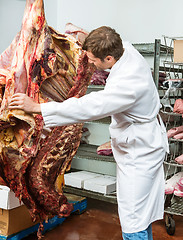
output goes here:
<path id="1" fill-rule="evenodd" d="M 132 43 L 183 36 L 182 0 L 44 0 L 47 22 L 63 32 L 67 22 L 90 31 L 115 28 Z M 25 0 L 0 0 L 0 53 L 20 30 Z"/>

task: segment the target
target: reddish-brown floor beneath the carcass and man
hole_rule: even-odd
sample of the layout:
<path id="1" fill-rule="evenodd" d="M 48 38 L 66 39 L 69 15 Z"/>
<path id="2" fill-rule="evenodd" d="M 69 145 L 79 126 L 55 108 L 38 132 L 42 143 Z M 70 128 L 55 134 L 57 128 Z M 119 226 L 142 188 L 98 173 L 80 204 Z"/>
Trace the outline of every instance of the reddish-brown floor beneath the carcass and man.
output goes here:
<path id="1" fill-rule="evenodd" d="M 183 240 L 183 217 L 174 216 L 175 234 L 170 236 L 164 220 L 153 223 L 154 240 Z M 24 240 L 36 240 L 30 235 Z M 43 240 L 122 240 L 117 205 L 88 199 L 87 210 L 72 214 L 61 225 L 46 232 Z"/>

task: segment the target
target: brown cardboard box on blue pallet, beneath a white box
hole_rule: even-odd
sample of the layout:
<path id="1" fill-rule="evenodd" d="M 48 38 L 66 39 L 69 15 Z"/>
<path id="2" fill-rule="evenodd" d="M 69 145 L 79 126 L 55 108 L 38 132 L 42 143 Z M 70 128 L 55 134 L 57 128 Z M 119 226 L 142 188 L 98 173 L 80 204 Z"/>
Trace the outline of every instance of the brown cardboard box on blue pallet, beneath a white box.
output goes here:
<path id="1" fill-rule="evenodd" d="M 37 223 L 32 222 L 25 205 L 10 210 L 0 209 L 0 235 L 9 236 Z"/>

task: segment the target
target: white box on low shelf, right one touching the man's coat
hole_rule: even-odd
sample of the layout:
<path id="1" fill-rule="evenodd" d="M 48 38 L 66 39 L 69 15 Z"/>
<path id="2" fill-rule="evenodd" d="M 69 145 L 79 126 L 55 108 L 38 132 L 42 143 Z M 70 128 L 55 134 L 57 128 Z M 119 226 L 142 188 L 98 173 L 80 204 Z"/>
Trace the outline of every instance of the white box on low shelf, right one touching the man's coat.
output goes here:
<path id="1" fill-rule="evenodd" d="M 116 178 L 103 175 L 101 177 L 86 180 L 84 182 L 84 189 L 103 194 L 110 194 L 116 191 Z"/>

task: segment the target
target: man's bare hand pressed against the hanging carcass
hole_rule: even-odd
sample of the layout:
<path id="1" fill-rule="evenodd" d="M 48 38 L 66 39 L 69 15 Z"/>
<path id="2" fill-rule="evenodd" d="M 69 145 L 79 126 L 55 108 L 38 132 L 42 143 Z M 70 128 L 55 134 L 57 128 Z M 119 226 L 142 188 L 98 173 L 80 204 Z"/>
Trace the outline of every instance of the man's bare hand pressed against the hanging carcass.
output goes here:
<path id="1" fill-rule="evenodd" d="M 9 103 L 9 109 L 21 109 L 27 113 L 41 113 L 41 106 L 39 103 L 33 101 L 24 93 L 15 93 Z"/>

